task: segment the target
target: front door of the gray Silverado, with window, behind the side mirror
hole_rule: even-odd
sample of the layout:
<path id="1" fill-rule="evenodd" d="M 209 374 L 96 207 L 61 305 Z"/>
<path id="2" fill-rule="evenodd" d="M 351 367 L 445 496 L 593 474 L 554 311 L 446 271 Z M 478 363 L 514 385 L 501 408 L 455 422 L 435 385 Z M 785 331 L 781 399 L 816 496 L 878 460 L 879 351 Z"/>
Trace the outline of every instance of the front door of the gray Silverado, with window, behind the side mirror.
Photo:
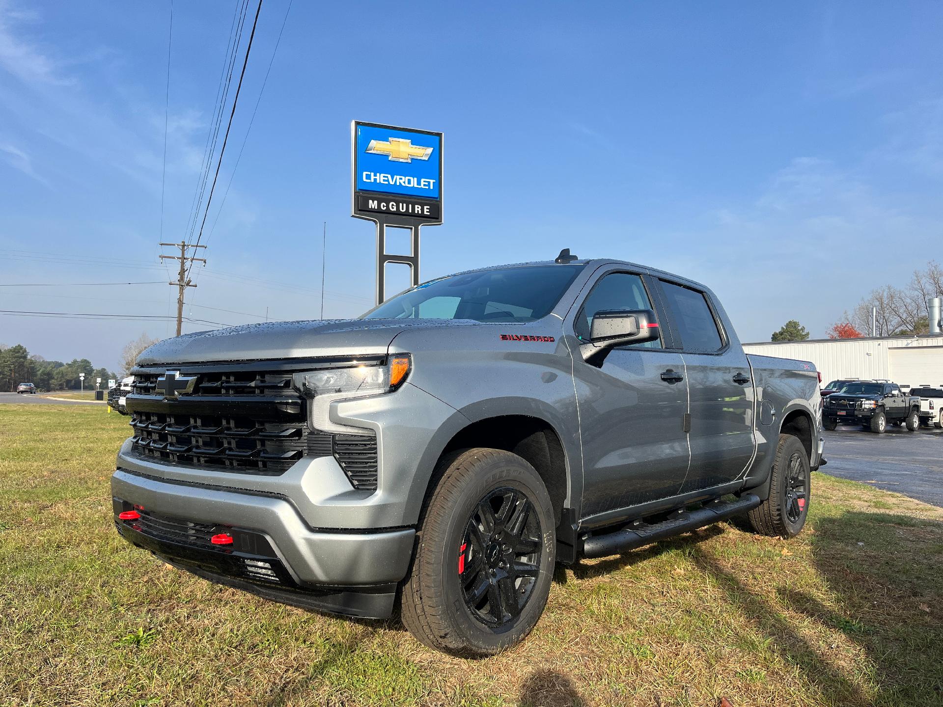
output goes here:
<path id="1" fill-rule="evenodd" d="M 574 321 L 588 340 L 603 310 L 654 309 L 642 278 L 610 272 L 590 291 Z M 661 340 L 609 352 L 601 368 L 575 357 L 583 436 L 583 517 L 675 496 L 687 473 L 687 381 L 680 354 Z"/>

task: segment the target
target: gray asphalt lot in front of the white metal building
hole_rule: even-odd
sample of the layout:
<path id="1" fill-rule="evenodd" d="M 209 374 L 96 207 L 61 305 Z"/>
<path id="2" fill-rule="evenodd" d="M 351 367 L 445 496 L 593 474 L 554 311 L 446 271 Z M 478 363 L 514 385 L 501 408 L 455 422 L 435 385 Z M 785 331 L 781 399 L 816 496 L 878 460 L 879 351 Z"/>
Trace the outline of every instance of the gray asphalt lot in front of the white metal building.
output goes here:
<path id="1" fill-rule="evenodd" d="M 918 501 L 943 506 L 943 430 L 907 432 L 888 427 L 884 435 L 840 425 L 825 431 L 823 473 L 863 481 Z"/>

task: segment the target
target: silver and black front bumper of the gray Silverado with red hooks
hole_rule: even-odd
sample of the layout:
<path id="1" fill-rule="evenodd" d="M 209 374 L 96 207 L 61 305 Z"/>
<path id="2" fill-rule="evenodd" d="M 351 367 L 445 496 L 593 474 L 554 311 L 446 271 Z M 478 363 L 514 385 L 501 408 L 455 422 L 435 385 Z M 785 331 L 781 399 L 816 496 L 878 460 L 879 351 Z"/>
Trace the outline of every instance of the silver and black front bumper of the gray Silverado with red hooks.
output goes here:
<path id="1" fill-rule="evenodd" d="M 286 497 L 170 481 L 130 469 L 115 471 L 111 494 L 119 533 L 170 564 L 268 599 L 352 616 L 389 616 L 415 537 L 413 528 L 311 528 Z M 118 518 L 122 510 L 138 506 L 148 518 L 172 520 L 160 525 Z M 190 526 L 220 526 L 249 539 L 229 548 L 194 543 L 191 534 L 179 532 Z M 246 559 L 268 563 L 278 582 L 247 576 Z"/>

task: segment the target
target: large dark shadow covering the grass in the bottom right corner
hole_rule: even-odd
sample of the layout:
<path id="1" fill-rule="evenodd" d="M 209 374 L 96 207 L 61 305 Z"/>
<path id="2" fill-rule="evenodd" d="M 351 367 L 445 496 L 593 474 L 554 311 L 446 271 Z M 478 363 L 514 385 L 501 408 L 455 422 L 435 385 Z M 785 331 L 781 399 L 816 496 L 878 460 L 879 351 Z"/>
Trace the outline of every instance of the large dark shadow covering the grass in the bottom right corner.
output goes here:
<path id="1" fill-rule="evenodd" d="M 943 704 L 943 523 L 848 512 L 816 521 L 813 562 L 835 607 L 784 592 L 796 611 L 868 654 L 878 704 Z"/>

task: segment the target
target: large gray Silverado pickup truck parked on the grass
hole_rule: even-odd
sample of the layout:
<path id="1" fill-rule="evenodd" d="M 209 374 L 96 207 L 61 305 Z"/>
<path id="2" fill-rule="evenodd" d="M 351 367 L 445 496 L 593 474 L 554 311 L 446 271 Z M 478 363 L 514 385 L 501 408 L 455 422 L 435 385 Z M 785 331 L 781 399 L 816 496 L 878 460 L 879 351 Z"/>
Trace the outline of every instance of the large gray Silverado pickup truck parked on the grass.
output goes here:
<path id="1" fill-rule="evenodd" d="M 124 538 L 267 599 L 399 607 L 460 655 L 529 633 L 556 563 L 734 516 L 798 534 L 823 463 L 811 364 L 744 354 L 702 285 L 569 251 L 167 339 L 133 374 Z"/>

